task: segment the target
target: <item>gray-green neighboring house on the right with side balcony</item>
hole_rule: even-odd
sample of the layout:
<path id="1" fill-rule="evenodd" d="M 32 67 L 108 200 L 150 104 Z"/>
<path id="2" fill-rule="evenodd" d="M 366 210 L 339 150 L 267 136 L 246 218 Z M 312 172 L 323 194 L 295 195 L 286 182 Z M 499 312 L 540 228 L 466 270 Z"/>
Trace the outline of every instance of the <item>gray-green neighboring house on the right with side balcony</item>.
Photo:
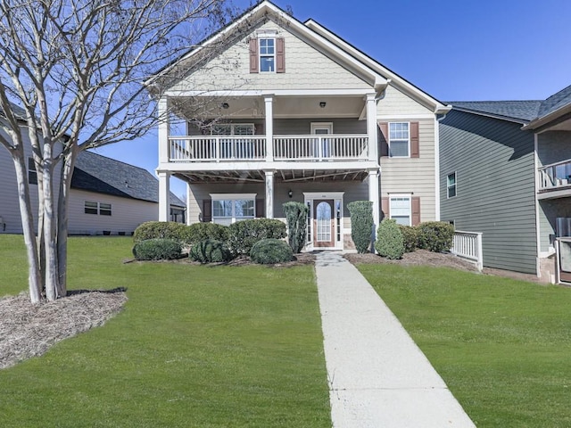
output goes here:
<path id="1" fill-rule="evenodd" d="M 571 86 L 542 101 L 452 105 L 440 125 L 442 219 L 483 233 L 484 266 L 571 282 Z"/>

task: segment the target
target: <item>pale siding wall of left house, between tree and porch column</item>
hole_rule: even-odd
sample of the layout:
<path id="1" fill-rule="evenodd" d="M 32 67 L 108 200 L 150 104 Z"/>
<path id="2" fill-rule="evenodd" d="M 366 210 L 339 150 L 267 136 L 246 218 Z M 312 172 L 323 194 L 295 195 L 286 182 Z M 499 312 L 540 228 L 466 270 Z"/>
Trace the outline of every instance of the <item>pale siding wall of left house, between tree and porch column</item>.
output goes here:
<path id="1" fill-rule="evenodd" d="M 112 215 L 86 214 L 86 201 L 111 203 Z M 103 230 L 130 235 L 141 223 L 159 219 L 159 204 L 71 189 L 69 218 L 70 235 L 101 235 Z"/>

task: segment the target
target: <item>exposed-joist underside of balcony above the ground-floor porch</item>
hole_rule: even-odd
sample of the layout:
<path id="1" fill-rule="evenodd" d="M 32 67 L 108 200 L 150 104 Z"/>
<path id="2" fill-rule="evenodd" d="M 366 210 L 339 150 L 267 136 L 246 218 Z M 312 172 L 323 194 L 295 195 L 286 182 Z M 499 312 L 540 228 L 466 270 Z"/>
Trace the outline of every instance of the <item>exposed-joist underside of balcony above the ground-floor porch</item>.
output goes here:
<path id="1" fill-rule="evenodd" d="M 174 175 L 191 184 L 195 183 L 265 183 L 263 170 L 250 171 L 192 171 Z M 363 181 L 368 172 L 362 169 L 280 169 L 274 175 L 276 183 Z"/>

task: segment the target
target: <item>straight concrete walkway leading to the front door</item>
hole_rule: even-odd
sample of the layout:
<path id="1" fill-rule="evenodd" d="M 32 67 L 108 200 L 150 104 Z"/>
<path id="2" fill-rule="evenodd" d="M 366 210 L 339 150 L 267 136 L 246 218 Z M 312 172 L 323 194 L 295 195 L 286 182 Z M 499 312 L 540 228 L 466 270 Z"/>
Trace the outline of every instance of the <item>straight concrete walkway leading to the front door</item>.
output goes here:
<path id="1" fill-rule="evenodd" d="M 476 426 L 351 263 L 320 252 L 316 271 L 335 428 Z"/>

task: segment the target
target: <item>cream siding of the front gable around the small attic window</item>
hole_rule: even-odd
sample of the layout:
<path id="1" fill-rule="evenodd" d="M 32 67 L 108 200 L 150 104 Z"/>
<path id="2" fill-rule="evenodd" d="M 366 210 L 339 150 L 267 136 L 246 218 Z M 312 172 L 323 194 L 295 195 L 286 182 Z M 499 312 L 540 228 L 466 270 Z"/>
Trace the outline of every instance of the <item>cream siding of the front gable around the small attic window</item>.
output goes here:
<path id="1" fill-rule="evenodd" d="M 294 36 L 288 29 L 283 29 L 272 21 L 266 22 L 260 29 L 275 30 L 277 37 L 285 39 L 285 73 L 250 73 L 250 34 L 247 34 L 172 89 L 372 89 L 361 78 Z"/>

